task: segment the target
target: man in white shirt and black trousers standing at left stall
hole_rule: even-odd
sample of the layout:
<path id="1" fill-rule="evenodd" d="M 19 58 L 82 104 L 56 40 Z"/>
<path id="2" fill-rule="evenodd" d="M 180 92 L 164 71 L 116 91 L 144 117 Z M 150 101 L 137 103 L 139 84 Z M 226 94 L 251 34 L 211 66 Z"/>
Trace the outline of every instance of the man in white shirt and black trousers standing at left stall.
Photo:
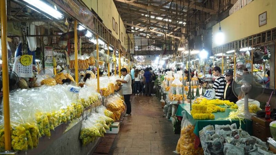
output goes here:
<path id="1" fill-rule="evenodd" d="M 122 94 L 125 98 L 125 104 L 127 106 L 126 114 L 124 117 L 131 116 L 131 104 L 130 104 L 130 95 L 132 94 L 131 87 L 131 76 L 128 74 L 128 70 L 126 68 L 121 69 L 121 74 L 123 75 L 123 79 L 117 79 L 116 82 L 123 83 L 122 85 Z"/>

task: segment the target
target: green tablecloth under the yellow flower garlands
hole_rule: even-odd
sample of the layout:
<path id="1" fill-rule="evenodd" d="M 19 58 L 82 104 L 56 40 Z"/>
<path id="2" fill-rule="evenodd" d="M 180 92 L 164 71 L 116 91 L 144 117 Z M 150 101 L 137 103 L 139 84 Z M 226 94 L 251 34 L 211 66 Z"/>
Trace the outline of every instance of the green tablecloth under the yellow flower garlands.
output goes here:
<path id="1" fill-rule="evenodd" d="M 232 109 L 226 108 L 225 112 L 217 112 L 213 113 L 215 115 L 214 120 L 196 120 L 193 118 L 193 116 L 190 114 L 190 104 L 179 104 L 176 116 L 183 116 L 182 111 L 186 111 L 185 115 L 187 119 L 191 122 L 191 124 L 194 125 L 194 134 L 199 136 L 199 131 L 203 129 L 203 127 L 207 125 L 213 125 L 215 127 L 215 124 L 217 125 L 227 125 L 227 124 L 233 124 L 236 123 L 237 127 L 240 127 L 240 121 L 239 120 L 220 120 L 221 118 L 226 118 L 229 113 L 232 111 Z M 245 131 L 247 131 L 250 135 L 252 135 L 252 120 L 243 120 L 241 121 L 241 128 Z"/>

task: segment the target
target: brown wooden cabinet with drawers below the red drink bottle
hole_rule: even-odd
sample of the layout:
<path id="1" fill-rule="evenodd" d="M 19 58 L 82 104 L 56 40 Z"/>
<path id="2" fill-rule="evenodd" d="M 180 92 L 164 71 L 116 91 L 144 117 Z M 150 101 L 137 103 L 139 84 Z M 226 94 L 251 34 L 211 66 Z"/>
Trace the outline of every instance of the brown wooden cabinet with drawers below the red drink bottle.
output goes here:
<path id="1" fill-rule="evenodd" d="M 264 118 L 260 118 L 257 116 L 252 116 L 253 120 L 253 136 L 261 139 L 262 141 L 266 142 L 267 139 L 271 136 L 269 124 L 270 122 L 274 121 L 271 119 L 270 121 L 266 121 Z"/>

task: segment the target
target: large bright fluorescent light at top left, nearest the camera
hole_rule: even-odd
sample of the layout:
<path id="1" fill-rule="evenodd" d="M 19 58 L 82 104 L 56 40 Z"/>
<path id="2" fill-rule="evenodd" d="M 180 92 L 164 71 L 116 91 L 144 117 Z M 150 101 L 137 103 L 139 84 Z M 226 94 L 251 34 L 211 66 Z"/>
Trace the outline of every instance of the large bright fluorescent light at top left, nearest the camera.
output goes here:
<path id="1" fill-rule="evenodd" d="M 30 5 L 36 7 L 37 9 L 40 9 L 41 11 L 51 15 L 52 17 L 56 19 L 62 19 L 63 15 L 57 11 L 55 8 L 49 6 L 48 4 L 42 2 L 41 0 L 23 0 Z"/>

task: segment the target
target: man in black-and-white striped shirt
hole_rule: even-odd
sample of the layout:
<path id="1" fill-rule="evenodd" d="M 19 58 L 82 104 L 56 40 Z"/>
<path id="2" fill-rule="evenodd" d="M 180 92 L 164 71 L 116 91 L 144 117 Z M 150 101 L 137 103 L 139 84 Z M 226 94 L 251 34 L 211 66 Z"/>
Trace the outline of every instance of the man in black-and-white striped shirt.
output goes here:
<path id="1" fill-rule="evenodd" d="M 226 79 L 223 75 L 221 75 L 221 70 L 217 66 L 213 68 L 213 74 L 214 76 L 217 76 L 217 79 L 215 79 L 215 82 L 213 85 L 213 90 L 215 90 L 216 92 L 215 98 L 222 99 L 224 94 Z"/>

